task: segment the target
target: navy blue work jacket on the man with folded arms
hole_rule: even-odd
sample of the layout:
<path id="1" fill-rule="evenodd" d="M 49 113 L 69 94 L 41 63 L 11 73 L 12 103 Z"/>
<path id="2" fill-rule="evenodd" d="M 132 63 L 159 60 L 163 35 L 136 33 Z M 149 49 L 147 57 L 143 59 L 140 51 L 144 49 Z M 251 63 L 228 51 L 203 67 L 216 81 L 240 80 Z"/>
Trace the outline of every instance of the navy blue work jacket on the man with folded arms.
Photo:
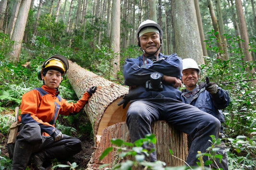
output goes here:
<path id="1" fill-rule="evenodd" d="M 129 94 L 136 99 L 152 99 L 167 97 L 181 101 L 181 91 L 174 88 L 172 84 L 162 82 L 162 91 L 147 91 L 146 81 L 150 80 L 150 74 L 153 72 L 163 75 L 177 77 L 181 79 L 183 63 L 177 54 L 170 56 L 159 53 L 156 62 L 147 59 L 144 55 L 137 58 L 127 58 L 123 66 L 124 84 L 130 86 Z"/>

